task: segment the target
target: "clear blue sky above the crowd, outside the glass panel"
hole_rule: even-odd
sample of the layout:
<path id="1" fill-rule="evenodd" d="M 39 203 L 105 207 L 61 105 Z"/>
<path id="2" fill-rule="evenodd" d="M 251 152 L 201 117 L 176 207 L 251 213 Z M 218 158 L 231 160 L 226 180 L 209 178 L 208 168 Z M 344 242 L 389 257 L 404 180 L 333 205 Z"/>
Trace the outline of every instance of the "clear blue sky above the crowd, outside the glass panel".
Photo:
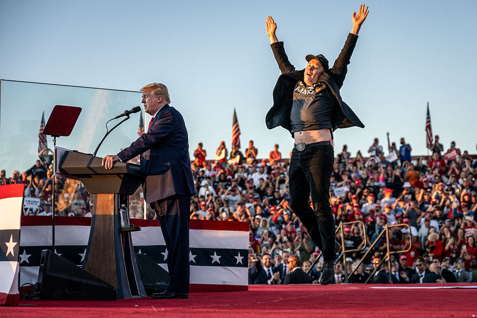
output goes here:
<path id="1" fill-rule="evenodd" d="M 279 143 L 288 156 L 290 133 L 265 126 L 280 75 L 266 17 L 275 19 L 290 61 L 302 69 L 307 54 L 334 61 L 359 4 L 0 0 L 0 78 L 132 91 L 162 82 L 184 115 L 191 150 L 202 141 L 212 159 L 221 140 L 229 147 L 235 107 L 242 145 L 255 140 L 261 157 Z M 475 154 L 477 1 L 366 5 L 370 13 L 341 89 L 366 127 L 336 131 L 335 151 L 348 144 L 353 154 L 366 152 L 376 136 L 386 146 L 389 131 L 392 141 L 404 136 L 413 154 L 426 154 L 429 102 L 433 132 L 445 148 L 456 140 Z"/>

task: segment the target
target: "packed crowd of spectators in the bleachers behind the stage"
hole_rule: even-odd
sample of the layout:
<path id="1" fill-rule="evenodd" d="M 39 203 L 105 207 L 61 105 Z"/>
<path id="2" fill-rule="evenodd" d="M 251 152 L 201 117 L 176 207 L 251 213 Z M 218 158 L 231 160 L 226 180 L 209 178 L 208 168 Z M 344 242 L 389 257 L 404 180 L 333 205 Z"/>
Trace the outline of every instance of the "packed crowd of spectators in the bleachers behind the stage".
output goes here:
<path id="1" fill-rule="evenodd" d="M 361 250 L 347 253 L 344 263 L 337 262 L 335 283 L 346 281 L 345 270 L 348 274 L 354 270 L 347 280 L 353 283 L 364 282 L 373 271 L 370 281 L 381 283 L 390 271 L 393 281 L 400 283 L 422 283 L 431 276 L 435 278 L 432 282 L 453 282 L 452 277 L 476 282 L 477 163 L 454 142 L 444 151 L 438 136 L 430 147 L 432 158 L 413 160 L 412 147 L 404 138 L 396 146 L 388 137 L 387 148 L 384 151 L 376 138 L 366 157 L 360 151 L 352 157 L 346 145 L 335 153 L 330 188 L 335 224 L 362 221 L 365 225 L 344 226 L 343 238 L 338 231 L 336 238 L 344 242 L 345 250 Z M 300 267 L 308 272 L 320 251 L 290 210 L 289 160 L 282 159 L 279 145 L 262 160 L 257 159 L 259 150 L 253 141 L 245 154 L 237 147 L 228 154 L 224 142 L 215 154 L 215 160 L 206 160 L 202 144 L 194 150 L 191 168 L 197 196 L 191 199 L 190 217 L 249 222 L 250 256 L 255 260 L 249 261 L 250 271 L 260 267 L 279 273 L 270 279 L 255 277 L 251 283 L 283 283 L 290 256 L 299 256 Z M 52 213 L 52 156 L 47 150 L 39 157 L 30 169 L 14 171 L 11 178 L 4 170 L 0 172 L 0 185 L 24 184 L 24 196 L 39 199 L 37 207 L 24 207 L 25 215 Z M 91 216 L 93 195 L 79 181 L 57 177 L 55 197 L 56 215 Z M 129 207 L 131 217 L 144 218 L 141 189 L 130 197 Z M 146 218 L 156 217 L 148 206 L 145 210 Z M 387 262 L 381 262 L 388 248 L 386 240 L 371 244 L 386 225 L 397 224 L 407 224 L 410 231 L 407 226 L 391 227 L 389 249 L 409 250 L 393 254 L 388 268 Z M 320 260 L 311 268 L 314 283 L 319 281 L 320 268 Z"/>

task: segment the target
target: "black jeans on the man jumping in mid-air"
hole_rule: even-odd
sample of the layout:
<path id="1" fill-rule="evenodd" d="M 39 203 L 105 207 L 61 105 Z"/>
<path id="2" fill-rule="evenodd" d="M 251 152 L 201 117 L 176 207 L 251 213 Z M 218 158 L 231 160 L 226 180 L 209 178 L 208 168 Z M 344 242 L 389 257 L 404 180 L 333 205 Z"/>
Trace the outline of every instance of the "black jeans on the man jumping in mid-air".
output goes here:
<path id="1" fill-rule="evenodd" d="M 331 145 L 293 149 L 290 158 L 290 208 L 299 218 L 327 262 L 336 259 L 334 217 L 330 206 L 330 178 L 334 151 Z M 309 198 L 314 210 L 310 207 Z"/>

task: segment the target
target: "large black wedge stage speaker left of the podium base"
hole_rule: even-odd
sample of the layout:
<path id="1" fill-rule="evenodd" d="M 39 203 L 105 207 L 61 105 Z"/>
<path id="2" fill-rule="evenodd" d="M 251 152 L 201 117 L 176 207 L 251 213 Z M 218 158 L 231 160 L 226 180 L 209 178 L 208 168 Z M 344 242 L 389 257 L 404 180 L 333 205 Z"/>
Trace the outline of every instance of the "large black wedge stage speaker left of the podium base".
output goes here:
<path id="1" fill-rule="evenodd" d="M 116 288 L 50 250 L 41 251 L 37 289 L 43 300 L 116 300 Z"/>

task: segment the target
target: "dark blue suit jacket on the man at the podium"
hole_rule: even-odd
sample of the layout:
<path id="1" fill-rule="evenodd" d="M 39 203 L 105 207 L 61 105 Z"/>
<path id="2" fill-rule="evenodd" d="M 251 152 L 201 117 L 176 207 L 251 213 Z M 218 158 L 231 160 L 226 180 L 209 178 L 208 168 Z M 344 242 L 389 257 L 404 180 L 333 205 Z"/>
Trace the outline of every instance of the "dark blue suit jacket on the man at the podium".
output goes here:
<path id="1" fill-rule="evenodd" d="M 171 195 L 195 195 L 190 170 L 189 142 L 182 115 L 168 104 L 154 117 L 143 133 L 118 155 L 128 161 L 141 154 L 143 192 L 146 203 Z"/>

